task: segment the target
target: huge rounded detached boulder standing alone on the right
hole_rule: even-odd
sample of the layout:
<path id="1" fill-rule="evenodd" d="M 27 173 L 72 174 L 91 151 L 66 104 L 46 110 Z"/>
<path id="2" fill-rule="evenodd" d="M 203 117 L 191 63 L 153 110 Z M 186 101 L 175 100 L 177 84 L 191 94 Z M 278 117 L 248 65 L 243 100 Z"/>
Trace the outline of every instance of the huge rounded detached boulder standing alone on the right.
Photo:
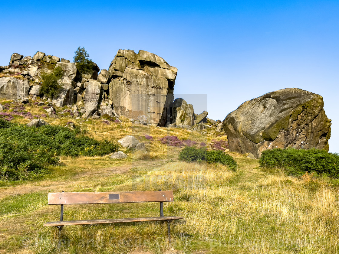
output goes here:
<path id="1" fill-rule="evenodd" d="M 331 137 L 331 120 L 323 98 L 298 88 L 269 92 L 246 101 L 223 121 L 230 151 L 252 153 L 265 149 L 325 149 Z"/>

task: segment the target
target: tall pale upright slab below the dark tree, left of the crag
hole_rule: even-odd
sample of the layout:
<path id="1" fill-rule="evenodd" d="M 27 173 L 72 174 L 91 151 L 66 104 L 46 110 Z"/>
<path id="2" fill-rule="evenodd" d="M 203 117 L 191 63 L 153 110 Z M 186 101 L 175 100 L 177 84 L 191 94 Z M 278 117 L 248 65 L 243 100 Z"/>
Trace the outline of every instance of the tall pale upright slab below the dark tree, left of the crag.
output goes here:
<path id="1" fill-rule="evenodd" d="M 96 80 L 89 80 L 87 83 L 83 101 L 85 104 L 85 117 L 89 118 L 98 110 L 101 85 Z"/>

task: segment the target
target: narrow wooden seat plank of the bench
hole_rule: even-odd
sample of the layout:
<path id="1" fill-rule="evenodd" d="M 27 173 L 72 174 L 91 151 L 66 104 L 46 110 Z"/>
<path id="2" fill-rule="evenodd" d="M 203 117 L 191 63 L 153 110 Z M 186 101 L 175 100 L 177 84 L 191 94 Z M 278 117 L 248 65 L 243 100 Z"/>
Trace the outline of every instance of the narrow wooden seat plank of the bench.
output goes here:
<path id="1" fill-rule="evenodd" d="M 88 225 L 88 224 L 104 224 L 104 223 L 122 223 L 122 222 L 138 222 L 138 221 L 157 221 L 157 220 L 174 220 L 182 219 L 180 216 L 164 216 L 164 217 L 148 217 L 148 218 L 125 218 L 125 219 L 92 219 L 92 220 L 63 220 L 51 221 L 44 226 L 65 226 L 65 225 Z"/>

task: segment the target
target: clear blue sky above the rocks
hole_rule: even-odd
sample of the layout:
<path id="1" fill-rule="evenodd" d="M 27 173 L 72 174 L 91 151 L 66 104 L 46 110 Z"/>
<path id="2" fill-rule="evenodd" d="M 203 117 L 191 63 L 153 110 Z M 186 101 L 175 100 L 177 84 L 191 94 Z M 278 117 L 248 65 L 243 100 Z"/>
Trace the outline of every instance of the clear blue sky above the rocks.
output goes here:
<path id="1" fill-rule="evenodd" d="M 302 88 L 323 96 L 339 152 L 339 1 L 2 1 L 0 10 L 0 65 L 38 50 L 72 60 L 84 46 L 108 69 L 120 48 L 151 51 L 178 68 L 176 94 L 207 95 L 215 120 Z"/>

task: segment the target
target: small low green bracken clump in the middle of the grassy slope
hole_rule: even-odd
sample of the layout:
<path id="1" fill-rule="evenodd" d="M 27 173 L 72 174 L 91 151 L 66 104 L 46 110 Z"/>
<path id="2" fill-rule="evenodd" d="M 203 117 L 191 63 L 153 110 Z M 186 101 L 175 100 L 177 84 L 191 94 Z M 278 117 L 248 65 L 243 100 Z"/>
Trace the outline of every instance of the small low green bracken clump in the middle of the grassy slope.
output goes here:
<path id="1" fill-rule="evenodd" d="M 227 165 L 232 170 L 237 169 L 237 163 L 232 156 L 223 153 L 223 151 L 206 151 L 204 148 L 196 149 L 194 147 L 186 146 L 179 153 L 179 160 L 186 162 L 201 162 L 220 163 Z"/>

